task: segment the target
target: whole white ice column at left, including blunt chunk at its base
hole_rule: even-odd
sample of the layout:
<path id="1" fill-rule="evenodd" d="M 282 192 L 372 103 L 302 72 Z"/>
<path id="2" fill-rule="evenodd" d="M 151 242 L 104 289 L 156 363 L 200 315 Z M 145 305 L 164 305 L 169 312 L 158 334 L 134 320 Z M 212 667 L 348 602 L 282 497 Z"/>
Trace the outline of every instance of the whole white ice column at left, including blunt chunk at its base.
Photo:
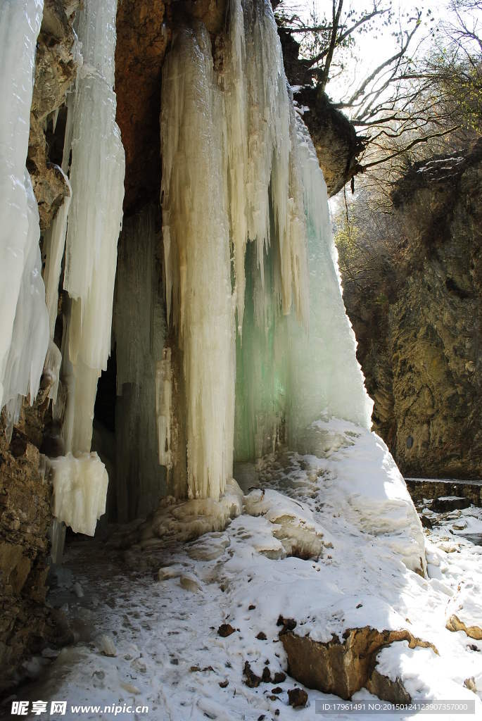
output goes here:
<path id="1" fill-rule="evenodd" d="M 116 0 L 86 0 L 76 14 L 81 54 L 76 84 L 67 98 L 63 152 L 71 197 L 64 200 L 46 238 L 51 338 L 64 244 L 63 287 L 69 296 L 63 318 L 63 385 L 53 411 L 63 423 L 66 450 L 66 456 L 52 461 L 54 514 L 74 531 L 89 535 L 105 511 L 107 495 L 107 471 L 90 450 L 97 381 L 110 355 L 124 197 L 125 159 L 112 89 L 116 11 Z M 56 360 L 53 348 L 51 342 L 47 366 Z"/>

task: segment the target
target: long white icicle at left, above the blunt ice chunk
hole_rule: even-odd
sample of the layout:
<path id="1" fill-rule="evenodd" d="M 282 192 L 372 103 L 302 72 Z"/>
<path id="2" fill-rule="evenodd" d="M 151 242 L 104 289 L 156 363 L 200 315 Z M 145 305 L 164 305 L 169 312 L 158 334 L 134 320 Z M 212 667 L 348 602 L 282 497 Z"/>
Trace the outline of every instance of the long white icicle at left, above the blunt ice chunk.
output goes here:
<path id="1" fill-rule="evenodd" d="M 117 239 L 124 197 L 124 150 L 115 123 L 117 0 L 85 0 L 76 19 L 83 64 L 68 97 L 63 168 L 71 153 L 72 201 L 63 285 L 72 364 L 64 437 L 74 454 L 89 452 L 97 378 L 110 354 Z M 65 356 L 64 356 L 65 357 Z"/>

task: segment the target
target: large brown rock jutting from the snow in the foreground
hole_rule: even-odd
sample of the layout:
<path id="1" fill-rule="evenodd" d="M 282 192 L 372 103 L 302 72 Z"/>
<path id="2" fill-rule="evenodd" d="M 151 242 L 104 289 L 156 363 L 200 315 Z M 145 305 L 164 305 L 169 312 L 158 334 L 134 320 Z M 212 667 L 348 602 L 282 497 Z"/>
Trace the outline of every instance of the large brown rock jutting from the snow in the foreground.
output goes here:
<path id="1" fill-rule="evenodd" d="M 396 641 L 408 641 L 411 648 L 434 648 L 427 641 L 412 636 L 409 631 L 380 632 L 368 626 L 348 629 L 344 632 L 343 642 L 334 637 L 328 643 L 320 643 L 312 641 L 308 636 L 297 636 L 292 631 L 281 632 L 280 638 L 287 654 L 290 676 L 303 686 L 318 689 L 325 694 L 335 694 L 342 699 L 351 699 L 355 691 L 360 691 L 370 683 L 378 691 L 388 689 L 387 684 L 384 686 L 382 680 L 372 674 L 376 655 L 383 646 Z M 394 689 L 391 691 L 394 693 Z"/>

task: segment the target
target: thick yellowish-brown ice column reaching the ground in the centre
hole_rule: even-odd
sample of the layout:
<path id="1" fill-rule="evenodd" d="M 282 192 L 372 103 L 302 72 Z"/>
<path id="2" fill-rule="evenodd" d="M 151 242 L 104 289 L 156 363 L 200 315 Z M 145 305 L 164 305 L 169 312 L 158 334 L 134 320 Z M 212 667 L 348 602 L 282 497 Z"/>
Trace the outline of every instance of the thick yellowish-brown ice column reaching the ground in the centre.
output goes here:
<path id="1" fill-rule="evenodd" d="M 203 25 L 166 58 L 161 110 L 166 301 L 183 353 L 187 493 L 217 499 L 233 466 L 234 314 L 222 97 Z"/>

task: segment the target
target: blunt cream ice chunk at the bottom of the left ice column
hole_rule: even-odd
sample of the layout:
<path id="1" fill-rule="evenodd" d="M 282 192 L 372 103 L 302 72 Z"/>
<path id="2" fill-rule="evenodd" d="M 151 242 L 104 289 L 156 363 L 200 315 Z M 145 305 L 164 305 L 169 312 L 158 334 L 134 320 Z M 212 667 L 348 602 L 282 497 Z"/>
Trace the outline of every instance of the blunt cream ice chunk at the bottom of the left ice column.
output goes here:
<path id="1" fill-rule="evenodd" d="M 53 515 L 76 533 L 93 536 L 105 513 L 109 479 L 97 453 L 67 454 L 49 461 L 53 482 Z"/>

